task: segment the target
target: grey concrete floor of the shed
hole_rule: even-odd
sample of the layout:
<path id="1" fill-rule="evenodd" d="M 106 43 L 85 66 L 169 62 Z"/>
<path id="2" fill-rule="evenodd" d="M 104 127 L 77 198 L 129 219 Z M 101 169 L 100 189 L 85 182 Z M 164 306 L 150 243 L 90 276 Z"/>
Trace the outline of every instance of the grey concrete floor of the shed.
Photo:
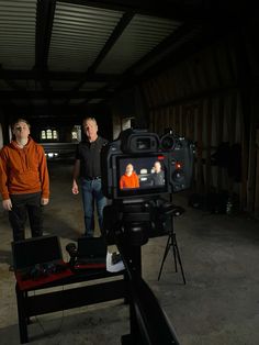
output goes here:
<path id="1" fill-rule="evenodd" d="M 65 260 L 66 244 L 83 229 L 81 199 L 71 194 L 71 165 L 49 165 L 52 201 L 45 209 L 46 234 L 60 236 Z M 173 202 L 187 210 L 174 221 L 187 285 L 174 272 L 171 252 L 157 280 L 167 237 L 143 246 L 143 276 L 180 344 L 259 344 L 259 222 L 191 209 L 184 193 L 173 194 Z M 16 345 L 15 279 L 9 271 L 12 237 L 2 210 L 0 224 L 0 344 Z M 128 308 L 120 300 L 40 315 L 29 326 L 32 345 L 115 345 L 127 332 Z"/>

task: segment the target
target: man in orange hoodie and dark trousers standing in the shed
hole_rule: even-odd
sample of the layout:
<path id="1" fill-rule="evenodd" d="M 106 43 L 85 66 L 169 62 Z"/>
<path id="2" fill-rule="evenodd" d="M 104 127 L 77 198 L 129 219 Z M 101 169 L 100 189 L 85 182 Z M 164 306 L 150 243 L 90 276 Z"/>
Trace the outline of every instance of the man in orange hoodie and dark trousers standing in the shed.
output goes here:
<path id="1" fill-rule="evenodd" d="M 30 137 L 29 122 L 16 120 L 12 133 L 14 138 L 0 151 L 0 193 L 13 240 L 20 241 L 25 238 L 27 215 L 32 236 L 43 235 L 42 207 L 49 200 L 49 178 L 44 148 Z"/>

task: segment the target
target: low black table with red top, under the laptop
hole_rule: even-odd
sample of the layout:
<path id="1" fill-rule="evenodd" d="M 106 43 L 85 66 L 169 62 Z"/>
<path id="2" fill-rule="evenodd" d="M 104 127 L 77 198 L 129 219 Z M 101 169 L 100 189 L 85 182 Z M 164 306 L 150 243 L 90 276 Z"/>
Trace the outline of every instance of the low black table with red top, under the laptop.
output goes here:
<path id="1" fill-rule="evenodd" d="M 105 279 L 114 276 L 116 276 L 114 280 Z M 74 272 L 68 267 L 64 271 L 40 279 L 22 280 L 19 272 L 15 277 L 21 344 L 29 342 L 27 325 L 31 316 L 128 297 L 124 271 L 111 274 L 105 268 Z M 87 285 L 89 280 L 97 282 Z M 75 287 L 76 282 L 81 283 Z M 63 289 L 64 286 L 66 289 Z M 60 287 L 60 290 L 52 291 L 48 289 L 52 287 Z M 48 290 L 45 291 L 46 289 Z M 37 294 L 30 293 L 35 290 Z"/>

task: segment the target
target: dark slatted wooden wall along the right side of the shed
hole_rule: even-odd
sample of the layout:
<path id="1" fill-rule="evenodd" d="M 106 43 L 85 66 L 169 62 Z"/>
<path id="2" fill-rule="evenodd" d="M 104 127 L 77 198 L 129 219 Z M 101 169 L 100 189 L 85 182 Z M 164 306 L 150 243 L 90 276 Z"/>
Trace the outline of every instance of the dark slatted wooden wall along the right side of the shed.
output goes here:
<path id="1" fill-rule="evenodd" d="M 240 209 L 254 212 L 258 208 L 259 188 L 256 185 L 256 192 L 255 129 L 259 127 L 259 107 L 255 104 L 259 103 L 259 91 L 254 87 L 252 99 L 251 86 L 246 90 L 239 82 L 237 42 L 238 37 L 227 36 L 160 75 L 159 82 L 154 78 L 143 87 L 148 89 L 153 130 L 160 134 L 161 130 L 172 127 L 174 133 L 195 143 L 193 191 L 238 194 Z M 255 49 L 250 51 L 250 56 L 252 53 L 255 56 Z M 223 143 L 228 143 L 230 148 L 236 144 L 241 147 L 239 180 L 229 167 L 212 165 L 212 155 Z"/>

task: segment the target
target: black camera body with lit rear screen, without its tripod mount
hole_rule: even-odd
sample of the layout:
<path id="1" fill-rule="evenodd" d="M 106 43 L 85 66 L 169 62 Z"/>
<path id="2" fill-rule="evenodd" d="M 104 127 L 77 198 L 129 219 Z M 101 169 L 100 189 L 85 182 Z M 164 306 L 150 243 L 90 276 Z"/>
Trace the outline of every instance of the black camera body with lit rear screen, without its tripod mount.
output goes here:
<path id="1" fill-rule="evenodd" d="M 122 177 L 132 165 L 138 185 L 125 187 Z M 160 166 L 160 177 L 156 174 Z M 128 129 L 101 152 L 102 188 L 108 199 L 128 200 L 179 192 L 190 187 L 193 145 L 168 132 L 161 137 L 146 130 Z"/>

